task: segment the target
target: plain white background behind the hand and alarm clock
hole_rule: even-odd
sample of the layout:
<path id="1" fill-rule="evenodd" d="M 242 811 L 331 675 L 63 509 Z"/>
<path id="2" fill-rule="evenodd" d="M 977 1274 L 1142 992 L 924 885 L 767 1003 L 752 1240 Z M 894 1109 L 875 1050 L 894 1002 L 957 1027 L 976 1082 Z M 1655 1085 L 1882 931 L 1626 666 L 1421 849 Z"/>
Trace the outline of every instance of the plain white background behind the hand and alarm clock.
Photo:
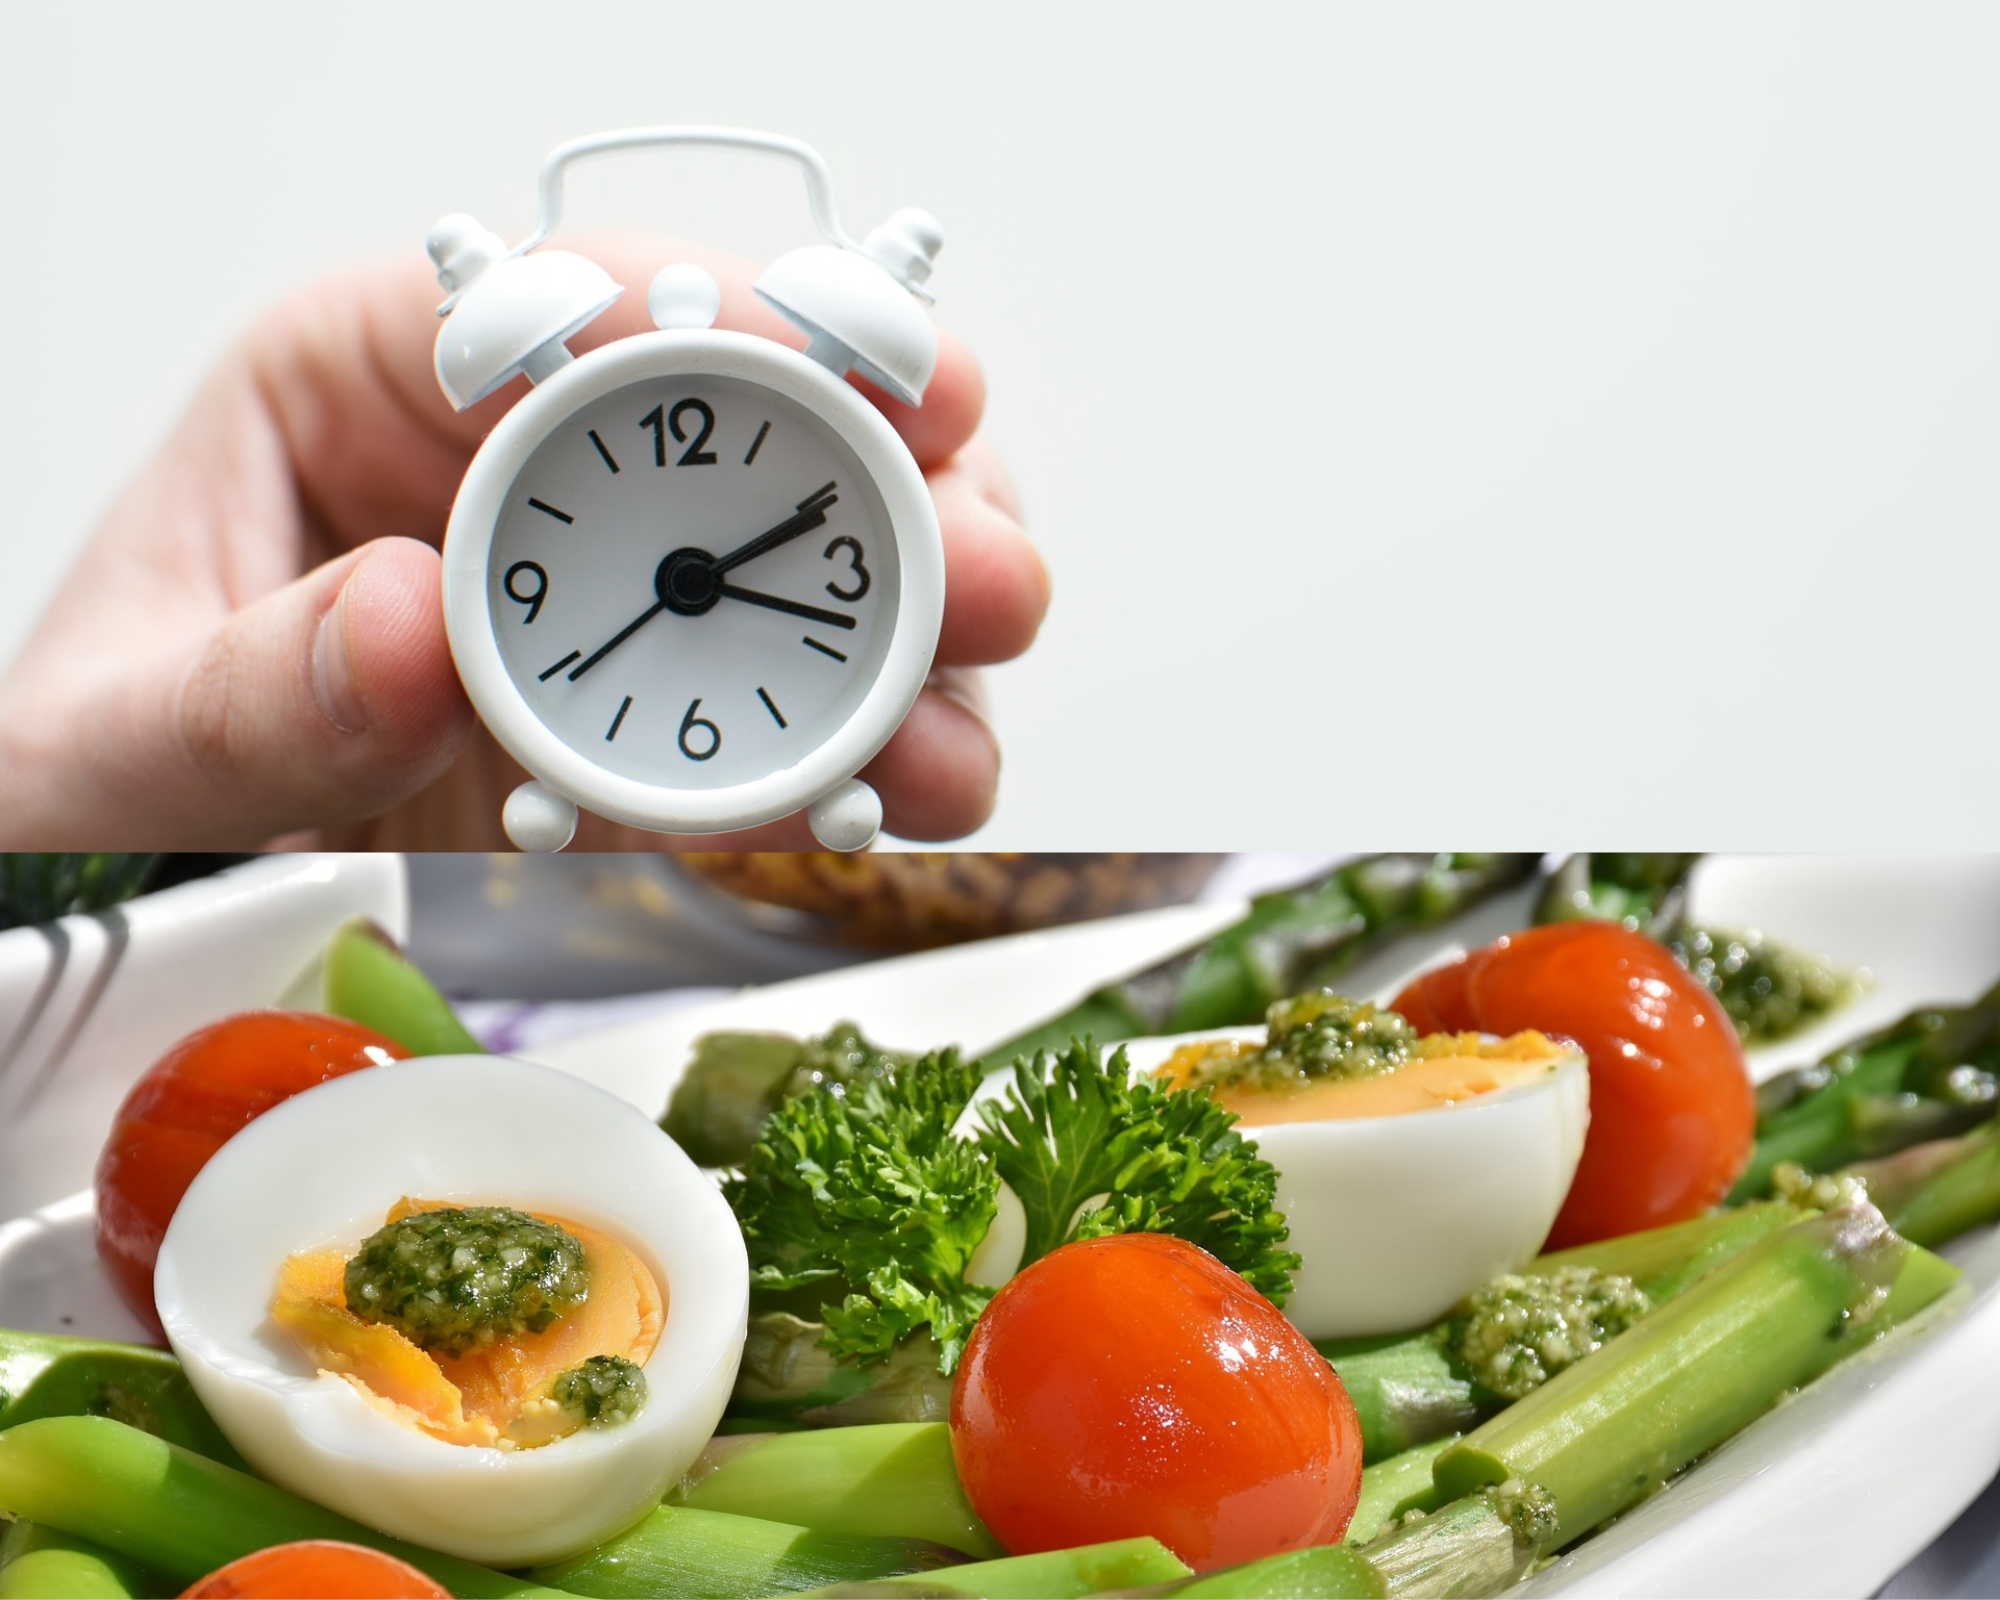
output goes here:
<path id="1" fill-rule="evenodd" d="M 1056 578 L 990 846 L 1990 842 L 2000 8 L 0 8 L 0 658 L 258 304 L 768 126 L 938 316 Z M 746 158 L 578 226 L 752 256 Z"/>

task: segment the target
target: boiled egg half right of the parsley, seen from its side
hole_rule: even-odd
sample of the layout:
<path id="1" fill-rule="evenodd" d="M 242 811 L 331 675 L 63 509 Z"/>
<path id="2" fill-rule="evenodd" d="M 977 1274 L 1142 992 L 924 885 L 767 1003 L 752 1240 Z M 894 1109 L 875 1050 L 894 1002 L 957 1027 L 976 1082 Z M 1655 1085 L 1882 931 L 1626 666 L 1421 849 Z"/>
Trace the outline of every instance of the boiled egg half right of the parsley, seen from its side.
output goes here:
<path id="1" fill-rule="evenodd" d="M 1262 1048 L 1262 1028 L 1140 1038 L 1134 1074 L 1186 1046 Z M 1378 1078 L 1212 1090 L 1278 1168 L 1302 1266 L 1286 1316 L 1306 1338 L 1392 1334 L 1528 1262 L 1570 1192 L 1590 1126 L 1590 1064 L 1564 1040 L 1466 1040 Z"/>

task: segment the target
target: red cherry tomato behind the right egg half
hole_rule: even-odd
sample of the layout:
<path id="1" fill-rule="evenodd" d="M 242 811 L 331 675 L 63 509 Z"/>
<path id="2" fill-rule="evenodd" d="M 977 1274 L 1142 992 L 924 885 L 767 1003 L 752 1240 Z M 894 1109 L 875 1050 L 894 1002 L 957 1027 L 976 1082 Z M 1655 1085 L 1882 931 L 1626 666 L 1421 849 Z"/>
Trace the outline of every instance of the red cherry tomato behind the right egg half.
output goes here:
<path id="1" fill-rule="evenodd" d="M 1590 1056 L 1590 1134 L 1550 1250 L 1682 1222 L 1750 1160 L 1756 1094 L 1722 1004 L 1662 944 L 1556 922 L 1426 972 L 1392 1002 L 1420 1032 L 1566 1034 Z"/>

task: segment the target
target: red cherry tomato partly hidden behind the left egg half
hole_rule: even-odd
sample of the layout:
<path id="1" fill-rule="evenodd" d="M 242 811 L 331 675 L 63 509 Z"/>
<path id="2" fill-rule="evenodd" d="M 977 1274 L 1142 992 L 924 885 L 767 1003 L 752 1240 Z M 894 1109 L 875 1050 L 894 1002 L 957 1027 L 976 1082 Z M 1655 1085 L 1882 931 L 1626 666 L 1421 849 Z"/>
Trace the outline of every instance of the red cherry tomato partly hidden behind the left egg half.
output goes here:
<path id="1" fill-rule="evenodd" d="M 300 1090 L 410 1052 L 314 1012 L 244 1012 L 188 1034 L 118 1108 L 98 1156 L 98 1256 L 132 1312 L 160 1332 L 152 1264 L 194 1174 L 230 1134 Z"/>

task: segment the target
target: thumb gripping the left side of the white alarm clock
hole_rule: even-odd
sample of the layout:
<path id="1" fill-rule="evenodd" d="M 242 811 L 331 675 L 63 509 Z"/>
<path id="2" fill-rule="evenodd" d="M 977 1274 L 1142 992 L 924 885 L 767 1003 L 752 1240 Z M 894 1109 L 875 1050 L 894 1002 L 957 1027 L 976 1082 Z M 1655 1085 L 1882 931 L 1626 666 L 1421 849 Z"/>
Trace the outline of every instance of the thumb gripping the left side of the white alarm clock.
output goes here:
<path id="1" fill-rule="evenodd" d="M 250 848 L 374 816 L 436 780 L 472 728 L 444 640 L 438 552 L 384 538 L 106 684 L 86 794 L 50 828 L 94 848 Z M 72 734 L 74 736 L 74 734 Z"/>

